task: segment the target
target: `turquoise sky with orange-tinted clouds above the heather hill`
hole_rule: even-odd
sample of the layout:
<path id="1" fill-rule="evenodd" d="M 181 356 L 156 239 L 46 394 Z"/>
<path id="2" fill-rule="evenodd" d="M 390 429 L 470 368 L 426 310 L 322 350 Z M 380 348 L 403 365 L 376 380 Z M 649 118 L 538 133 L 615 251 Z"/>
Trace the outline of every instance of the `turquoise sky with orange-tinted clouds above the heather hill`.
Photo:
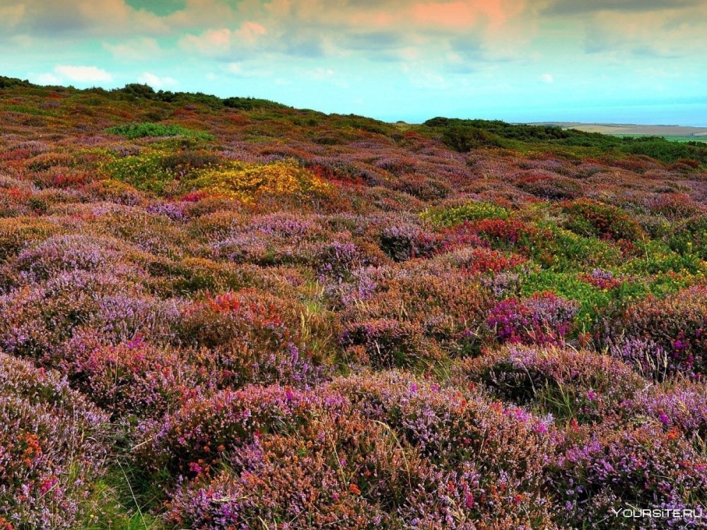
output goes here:
<path id="1" fill-rule="evenodd" d="M 0 0 L 0 75 L 421 122 L 707 126 L 707 0 Z"/>

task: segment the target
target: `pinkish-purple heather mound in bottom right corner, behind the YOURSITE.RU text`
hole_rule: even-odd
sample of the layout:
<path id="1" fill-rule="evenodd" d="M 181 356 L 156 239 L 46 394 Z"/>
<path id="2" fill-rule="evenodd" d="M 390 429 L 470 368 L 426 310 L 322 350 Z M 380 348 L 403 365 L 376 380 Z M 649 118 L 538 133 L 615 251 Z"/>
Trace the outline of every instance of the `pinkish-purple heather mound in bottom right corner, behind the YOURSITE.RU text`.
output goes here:
<path id="1" fill-rule="evenodd" d="M 560 522 L 581 518 L 597 528 L 635 528 L 612 509 L 699 510 L 707 471 L 680 437 L 657 427 L 607 430 L 570 442 L 553 473 Z M 683 524 L 672 519 L 665 524 Z"/>

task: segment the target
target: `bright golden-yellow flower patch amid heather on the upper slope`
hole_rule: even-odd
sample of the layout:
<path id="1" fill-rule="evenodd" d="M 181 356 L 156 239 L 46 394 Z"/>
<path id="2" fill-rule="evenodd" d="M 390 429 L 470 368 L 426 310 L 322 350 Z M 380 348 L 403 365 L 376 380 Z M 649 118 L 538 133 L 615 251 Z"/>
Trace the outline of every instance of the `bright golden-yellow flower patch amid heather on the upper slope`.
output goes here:
<path id="1" fill-rule="evenodd" d="M 228 169 L 208 170 L 192 184 L 204 191 L 243 202 L 253 202 L 262 196 L 322 196 L 332 189 L 323 179 L 293 162 L 240 163 Z"/>

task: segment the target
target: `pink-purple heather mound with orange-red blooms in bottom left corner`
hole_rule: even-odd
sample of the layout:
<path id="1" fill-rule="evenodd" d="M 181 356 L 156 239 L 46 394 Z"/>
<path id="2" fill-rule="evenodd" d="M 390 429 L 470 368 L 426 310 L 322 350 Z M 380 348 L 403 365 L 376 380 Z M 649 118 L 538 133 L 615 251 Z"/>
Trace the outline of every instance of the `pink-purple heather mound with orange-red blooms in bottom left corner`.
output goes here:
<path id="1" fill-rule="evenodd" d="M 102 473 L 108 418 L 56 372 L 0 353 L 0 519 L 71 529 Z"/>

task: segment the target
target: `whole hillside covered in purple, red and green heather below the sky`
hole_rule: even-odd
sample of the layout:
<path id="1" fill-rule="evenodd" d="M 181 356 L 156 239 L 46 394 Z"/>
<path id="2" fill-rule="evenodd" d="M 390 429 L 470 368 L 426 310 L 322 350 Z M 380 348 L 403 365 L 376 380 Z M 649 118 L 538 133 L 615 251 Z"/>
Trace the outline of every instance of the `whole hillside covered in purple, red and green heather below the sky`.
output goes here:
<path id="1" fill-rule="evenodd" d="M 706 237 L 703 143 L 0 78 L 0 529 L 696 510 Z"/>

